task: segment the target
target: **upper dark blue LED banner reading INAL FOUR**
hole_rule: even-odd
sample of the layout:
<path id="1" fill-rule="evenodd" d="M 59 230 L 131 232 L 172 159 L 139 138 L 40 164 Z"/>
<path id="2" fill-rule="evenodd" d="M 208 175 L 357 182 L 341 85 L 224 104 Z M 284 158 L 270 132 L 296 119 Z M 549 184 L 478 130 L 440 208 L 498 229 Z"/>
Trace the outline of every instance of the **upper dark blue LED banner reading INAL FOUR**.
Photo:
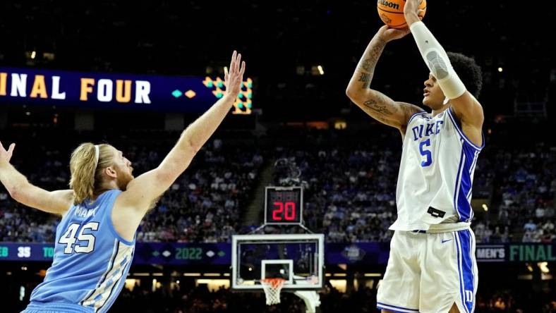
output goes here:
<path id="1" fill-rule="evenodd" d="M 252 90 L 247 78 L 232 113 L 251 113 Z M 203 112 L 225 93 L 219 77 L 0 68 L 0 104 Z"/>

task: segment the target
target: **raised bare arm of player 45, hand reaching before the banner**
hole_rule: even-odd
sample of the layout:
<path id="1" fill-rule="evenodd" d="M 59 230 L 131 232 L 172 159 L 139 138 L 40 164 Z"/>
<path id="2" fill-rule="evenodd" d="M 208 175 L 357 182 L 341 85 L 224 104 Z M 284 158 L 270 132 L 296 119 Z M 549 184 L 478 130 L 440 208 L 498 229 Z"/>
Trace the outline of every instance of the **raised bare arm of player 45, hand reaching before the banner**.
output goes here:
<path id="1" fill-rule="evenodd" d="M 240 66 L 241 64 L 241 66 Z M 225 73 L 226 94 L 195 122 L 183 131 L 178 142 L 152 171 L 144 173 L 129 183 L 127 190 L 116 200 L 117 207 L 127 207 L 138 212 L 140 219 L 164 191 L 186 170 L 193 156 L 205 145 L 218 125 L 224 120 L 241 91 L 245 62 L 241 54 L 231 56 L 229 73 Z"/>

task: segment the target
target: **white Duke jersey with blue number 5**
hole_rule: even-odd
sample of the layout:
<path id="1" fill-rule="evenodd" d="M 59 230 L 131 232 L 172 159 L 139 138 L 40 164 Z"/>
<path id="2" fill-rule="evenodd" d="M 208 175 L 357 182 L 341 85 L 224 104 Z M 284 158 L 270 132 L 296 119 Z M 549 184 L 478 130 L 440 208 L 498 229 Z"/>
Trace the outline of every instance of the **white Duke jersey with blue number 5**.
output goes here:
<path id="1" fill-rule="evenodd" d="M 471 186 L 478 147 L 467 138 L 452 108 L 437 116 L 413 114 L 407 123 L 393 231 L 442 232 L 469 227 Z"/>

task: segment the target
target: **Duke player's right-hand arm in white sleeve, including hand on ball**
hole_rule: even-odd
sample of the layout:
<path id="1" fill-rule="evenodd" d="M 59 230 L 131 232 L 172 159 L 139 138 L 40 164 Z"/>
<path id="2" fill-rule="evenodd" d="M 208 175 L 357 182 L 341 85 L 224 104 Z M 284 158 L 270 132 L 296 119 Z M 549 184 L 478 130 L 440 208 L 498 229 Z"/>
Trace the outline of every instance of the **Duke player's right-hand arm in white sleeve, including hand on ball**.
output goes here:
<path id="1" fill-rule="evenodd" d="M 481 142 L 481 127 L 483 126 L 483 107 L 473 94 L 466 90 L 463 82 L 452 68 L 445 49 L 442 48 L 437 39 L 428 30 L 418 17 L 420 0 L 407 0 L 404 6 L 404 16 L 409 25 L 411 34 L 415 39 L 421 55 L 427 63 L 430 73 L 435 76 L 440 89 L 461 123 L 469 125 L 471 130 L 468 137 L 478 137 Z M 464 132 L 466 127 L 464 125 Z M 477 134 L 478 133 L 478 134 Z M 471 136 L 469 136 L 471 135 Z M 473 140 L 477 141 L 477 140 Z"/>

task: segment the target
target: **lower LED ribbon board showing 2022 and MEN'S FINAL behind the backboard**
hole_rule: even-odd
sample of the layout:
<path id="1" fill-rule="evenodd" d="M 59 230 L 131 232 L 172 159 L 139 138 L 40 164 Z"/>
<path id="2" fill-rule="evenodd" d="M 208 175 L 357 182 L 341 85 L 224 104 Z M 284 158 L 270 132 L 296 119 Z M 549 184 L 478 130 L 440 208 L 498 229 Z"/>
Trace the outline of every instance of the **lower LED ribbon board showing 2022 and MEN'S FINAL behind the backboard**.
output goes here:
<path id="1" fill-rule="evenodd" d="M 326 264 L 388 262 L 389 243 L 328 243 Z M 0 243 L 1 261 L 52 262 L 54 244 Z M 511 243 L 476 247 L 477 262 L 555 262 L 556 244 Z M 231 264 L 230 243 L 137 243 L 134 264 Z"/>

